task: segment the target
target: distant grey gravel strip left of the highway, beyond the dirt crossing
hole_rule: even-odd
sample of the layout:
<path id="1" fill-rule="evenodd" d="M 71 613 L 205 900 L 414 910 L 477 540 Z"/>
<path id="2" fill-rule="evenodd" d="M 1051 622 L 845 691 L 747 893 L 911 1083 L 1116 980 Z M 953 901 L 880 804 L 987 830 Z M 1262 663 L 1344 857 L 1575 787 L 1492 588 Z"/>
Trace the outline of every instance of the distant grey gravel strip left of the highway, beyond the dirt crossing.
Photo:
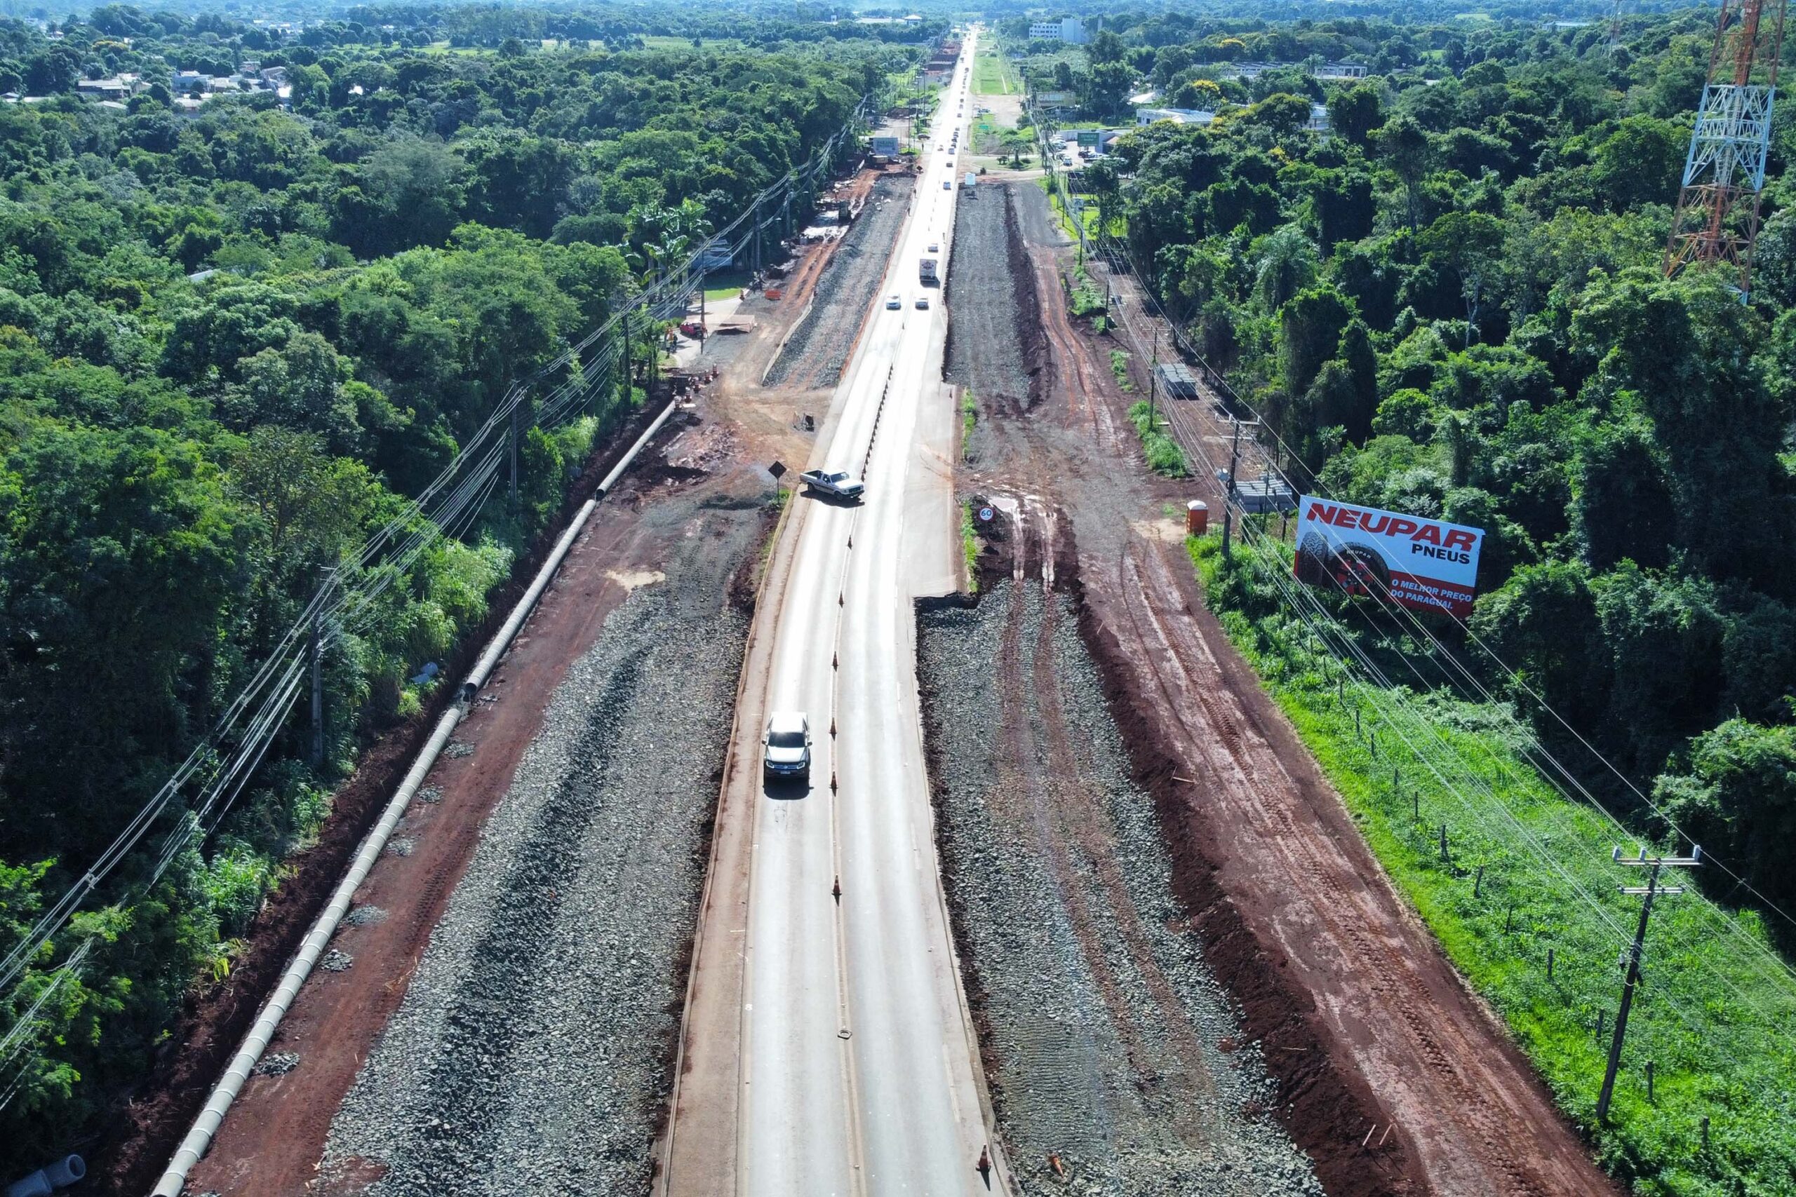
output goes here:
<path id="1" fill-rule="evenodd" d="M 873 185 L 866 208 L 817 280 L 810 314 L 767 371 L 767 386 L 814 389 L 842 380 L 842 368 L 878 294 L 914 194 L 916 179 L 909 174 L 884 176 Z"/>

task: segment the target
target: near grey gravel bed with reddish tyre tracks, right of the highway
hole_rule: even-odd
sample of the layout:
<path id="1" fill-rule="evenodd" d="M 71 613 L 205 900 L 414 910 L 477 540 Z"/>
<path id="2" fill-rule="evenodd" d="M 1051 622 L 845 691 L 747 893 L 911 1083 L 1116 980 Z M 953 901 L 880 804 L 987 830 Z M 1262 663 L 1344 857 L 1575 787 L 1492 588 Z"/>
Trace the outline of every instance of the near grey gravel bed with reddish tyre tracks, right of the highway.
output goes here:
<path id="1" fill-rule="evenodd" d="M 975 608 L 927 610 L 918 668 L 955 935 L 1020 1190 L 1320 1193 L 1171 894 L 1070 601 L 1004 580 Z"/>

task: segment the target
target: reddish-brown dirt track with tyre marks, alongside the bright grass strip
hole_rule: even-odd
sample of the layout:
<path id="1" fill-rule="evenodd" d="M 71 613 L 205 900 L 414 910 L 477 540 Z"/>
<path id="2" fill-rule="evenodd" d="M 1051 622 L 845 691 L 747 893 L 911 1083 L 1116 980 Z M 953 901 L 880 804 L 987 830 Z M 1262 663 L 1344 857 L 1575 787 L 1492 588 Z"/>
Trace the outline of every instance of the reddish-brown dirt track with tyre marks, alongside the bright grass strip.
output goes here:
<path id="1" fill-rule="evenodd" d="M 1020 384 L 973 379 L 995 398 L 981 404 L 966 490 L 1034 510 L 1033 535 L 1070 542 L 1043 553 L 1078 562 L 1085 639 L 1135 781 L 1158 806 L 1193 926 L 1279 1080 L 1281 1122 L 1331 1193 L 1613 1193 L 1203 607 L 1167 517 L 1218 495 L 1203 477 L 1146 476 L 1124 420 L 1139 393 L 1110 370 L 1126 343 L 1067 319 L 1069 251 L 1040 188 L 1015 187 L 1013 206 L 1022 246 L 1004 258 L 1033 278 L 1013 276 L 1009 301 L 1040 316 L 1018 309 Z M 1196 404 L 1178 415 L 1189 436 L 1218 434 L 1194 424 Z"/>

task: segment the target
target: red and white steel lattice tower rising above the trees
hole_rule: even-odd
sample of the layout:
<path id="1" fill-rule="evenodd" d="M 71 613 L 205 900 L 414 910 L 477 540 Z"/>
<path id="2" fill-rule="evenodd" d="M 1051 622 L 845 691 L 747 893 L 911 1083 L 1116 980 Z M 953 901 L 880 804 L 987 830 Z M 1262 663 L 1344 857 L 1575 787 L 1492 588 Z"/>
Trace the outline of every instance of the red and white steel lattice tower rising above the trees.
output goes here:
<path id="1" fill-rule="evenodd" d="M 1758 197 L 1771 149 L 1771 104 L 1778 90 L 1785 4 L 1721 2 L 1708 83 L 1665 246 L 1667 275 L 1676 275 L 1688 262 L 1724 262 L 1739 271 L 1742 298 L 1753 278 L 1753 240 L 1758 237 Z M 1774 9 L 1767 13 L 1771 5 Z"/>

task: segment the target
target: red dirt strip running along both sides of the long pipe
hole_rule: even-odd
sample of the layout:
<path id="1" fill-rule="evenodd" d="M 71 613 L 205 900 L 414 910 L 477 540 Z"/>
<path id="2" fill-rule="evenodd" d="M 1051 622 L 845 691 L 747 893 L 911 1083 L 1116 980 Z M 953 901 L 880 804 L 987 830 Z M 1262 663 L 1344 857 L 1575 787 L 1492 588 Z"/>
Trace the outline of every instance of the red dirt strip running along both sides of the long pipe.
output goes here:
<path id="1" fill-rule="evenodd" d="M 656 411 L 659 404 L 645 409 L 594 454 L 571 490 L 577 499 L 519 562 L 514 581 L 494 598 L 487 625 L 467 637 L 449 662 L 451 677 L 460 677 L 472 664 L 578 502 Z M 677 427 L 679 422 L 672 422 L 663 440 Z M 354 965 L 341 973 L 314 969 L 269 1046 L 271 1052 L 296 1052 L 300 1066 L 282 1077 L 250 1079 L 210 1154 L 194 1168 L 192 1192 L 304 1193 L 316 1179 L 338 1102 L 404 996 L 418 953 L 462 878 L 487 813 L 510 786 L 512 770 L 537 729 L 542 707 L 568 664 L 591 646 L 603 617 L 627 594 L 609 574 L 654 564 L 654 544 L 641 533 L 639 485 L 650 483 L 627 476 L 618 492 L 600 504 L 496 678 L 456 729 L 456 741 L 476 750 L 463 757 L 444 754 L 426 782 L 440 790 L 440 802 L 413 800 L 406 811 L 395 838 L 415 840 L 413 854 L 383 854 L 357 892 L 357 903 L 379 906 L 388 917 L 370 926 L 345 926 L 338 933 L 334 944 L 354 957 Z M 512 693 L 521 698 L 506 702 Z M 190 1001 L 163 1057 L 129 1102 L 126 1129 L 95 1161 L 95 1192 L 136 1197 L 154 1184 L 451 696 L 453 689 L 442 687 L 427 711 L 363 756 L 356 773 L 338 791 L 318 843 L 295 861 L 296 874 L 259 913 L 246 937 L 250 949 L 237 960 L 230 980 L 199 991 Z M 359 1190 L 372 1179 L 374 1174 L 361 1175 L 361 1184 L 345 1192 Z"/>

